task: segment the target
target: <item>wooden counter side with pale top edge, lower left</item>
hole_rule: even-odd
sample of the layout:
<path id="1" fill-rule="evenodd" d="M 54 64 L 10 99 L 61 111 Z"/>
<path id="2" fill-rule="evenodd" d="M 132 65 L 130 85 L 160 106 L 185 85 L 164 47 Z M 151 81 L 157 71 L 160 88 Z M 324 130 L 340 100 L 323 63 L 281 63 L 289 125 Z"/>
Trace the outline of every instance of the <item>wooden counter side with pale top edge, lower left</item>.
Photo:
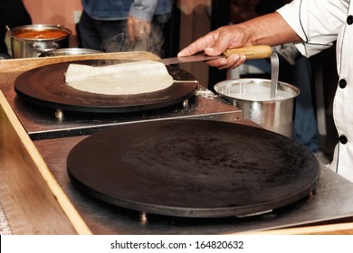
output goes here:
<path id="1" fill-rule="evenodd" d="M 4 112 L 5 112 L 5 115 L 4 115 Z M 2 114 L 3 114 L 3 116 L 2 116 Z M 28 191 L 32 190 L 33 184 L 34 184 L 34 187 L 37 187 L 37 188 L 34 188 L 34 190 L 36 190 L 36 191 L 34 191 L 34 193 L 40 195 L 40 197 L 38 197 L 39 200 L 43 200 L 43 199 L 45 200 L 45 198 L 48 198 L 48 196 L 49 196 L 49 199 L 51 199 L 50 201 L 52 201 L 52 202 L 56 201 L 55 205 L 59 204 L 59 206 L 62 209 L 61 211 L 63 212 L 63 215 L 65 215 L 67 217 L 67 219 L 70 220 L 71 226 L 73 227 L 74 230 L 76 230 L 76 232 L 78 234 L 91 235 L 91 230 L 88 228 L 88 226 L 86 225 L 84 220 L 82 220 L 81 215 L 78 213 L 78 211 L 76 211 L 76 209 L 72 205 L 72 202 L 69 200 L 67 195 L 63 192 L 60 185 L 56 182 L 56 180 L 53 177 L 52 173 L 50 172 L 49 168 L 47 167 L 47 165 L 43 161 L 42 156 L 39 154 L 39 152 L 36 149 L 35 145 L 33 144 L 32 140 L 25 132 L 24 127 L 21 125 L 21 123 L 19 122 L 19 120 L 15 116 L 13 109 L 8 104 L 3 92 L 1 90 L 0 90 L 0 126 L 3 126 L 1 131 L 5 132 L 5 133 L 3 132 L 2 136 L 0 136 L 2 138 L 2 139 L 0 139 L 0 145 L 3 144 L 5 147 L 5 148 L 3 146 L 0 147 L 0 149 L 4 148 L 0 155 L 9 155 L 9 154 L 16 153 L 18 155 L 18 159 L 15 159 L 15 160 L 25 159 L 24 162 L 27 162 L 27 164 L 22 163 L 19 165 L 14 165 L 17 163 L 17 161 L 14 161 L 14 160 L 7 161 L 7 165 L 9 165 L 10 167 L 12 166 L 11 170 L 19 170 L 21 175 L 11 174 L 10 177 L 6 177 L 7 175 L 5 173 L 13 173 L 13 172 L 5 172 L 4 173 L 4 170 L 6 170 L 6 169 L 4 167 L 2 168 L 2 170 L 3 170 L 2 173 L 3 173 L 3 175 L 5 175 L 5 178 L 3 178 L 3 180 L 6 180 L 6 178 L 7 179 L 10 178 L 11 180 L 14 181 L 14 183 L 11 183 L 12 185 L 11 185 L 10 189 L 2 189 L 3 194 L 11 195 L 9 198 L 5 198 L 3 195 L 2 201 L 6 201 L 5 204 L 11 206 L 11 207 L 8 207 L 5 209 L 5 207 L 2 203 L 4 211 L 7 210 L 10 213 L 14 212 L 14 214 L 11 215 L 11 216 L 14 216 L 14 217 L 12 217 L 13 221 L 14 221 L 14 219 L 19 218 L 18 216 L 20 216 L 20 217 L 29 216 L 29 214 L 26 212 L 31 211 L 31 207 L 21 206 L 21 205 L 24 205 L 25 203 L 21 202 L 24 200 L 21 199 L 21 197 L 19 197 L 18 194 L 20 193 L 20 195 L 24 195 L 24 197 L 22 197 L 22 198 L 31 199 L 32 198 L 31 192 L 19 192 L 18 188 L 21 188 L 21 187 L 19 187 L 18 184 L 21 184 L 21 183 L 22 184 L 25 184 L 25 183 L 32 184 L 29 187 L 24 187 L 24 189 L 28 189 Z M 5 136 L 5 135 L 7 135 L 7 136 Z M 15 135 L 17 135 L 17 136 L 15 136 Z M 14 143 L 12 143 L 12 142 L 14 142 Z M 7 153 L 6 153 L 5 149 L 8 149 L 10 151 L 7 151 Z M 24 156 L 26 156 L 26 157 L 23 158 Z M 5 163 L 5 165 L 6 165 L 6 162 L 3 162 L 3 161 L 1 161 L 1 162 Z M 31 164 L 35 165 L 36 169 L 39 171 L 39 174 L 42 175 L 43 179 L 35 181 L 35 177 L 38 177 L 38 172 L 36 172 L 36 171 L 34 172 L 33 170 L 31 171 L 31 169 L 33 169 L 32 167 L 29 168 L 31 166 Z M 17 167 L 20 167 L 20 168 L 17 169 Z M 9 171 L 9 170 L 7 170 L 7 171 Z M 18 171 L 17 171 L 17 173 L 18 173 Z M 25 174 L 25 175 L 23 175 L 23 174 Z M 35 174 L 37 174 L 37 175 L 35 175 Z M 33 178 L 27 178 L 26 176 L 28 176 L 28 175 L 31 175 L 31 176 L 33 175 Z M 18 180 L 18 181 L 23 180 L 23 181 L 22 182 L 15 182 L 16 180 Z M 40 187 L 40 186 L 37 186 L 36 184 L 42 183 L 43 180 L 47 184 L 45 186 L 45 189 L 47 189 L 49 187 L 51 192 L 49 192 L 49 190 L 45 191 L 45 189 L 43 189 L 43 191 L 37 191 L 38 187 Z M 45 185 L 45 183 L 43 185 Z M 10 184 L 10 183 L 8 183 L 8 184 Z M 5 187 L 5 186 L 3 185 L 2 187 Z M 7 190 L 7 192 L 5 192 L 5 190 Z M 42 189 L 40 189 L 40 190 L 42 190 Z M 49 193 L 46 193 L 46 192 L 49 192 Z M 47 194 L 47 195 L 45 195 L 45 194 Z M 53 195 L 53 198 L 51 197 L 52 195 Z M 18 198 L 18 200 L 17 200 L 17 198 Z M 4 200 L 4 199 L 6 199 L 6 200 Z M 17 201 L 17 202 L 21 202 L 21 203 L 16 203 L 16 204 L 12 205 L 11 201 Z M 30 202 L 30 201 L 31 200 L 28 200 L 28 202 Z M 48 202 L 50 202 L 50 201 L 48 201 Z M 33 206 L 33 209 L 37 208 L 37 210 L 33 211 L 33 213 L 37 217 L 34 217 L 34 218 L 38 219 L 38 220 L 44 219 L 44 216 L 47 215 L 47 212 L 50 212 L 50 210 L 43 211 L 43 209 L 45 209 L 46 203 L 40 202 L 38 204 L 38 201 L 36 201 L 35 205 L 36 205 L 36 207 Z M 40 205 L 41 207 L 38 207 L 38 205 Z M 47 206 L 50 206 L 50 204 L 47 204 Z M 59 208 L 59 206 L 57 208 Z M 51 208 L 52 208 L 52 210 L 57 209 L 56 207 L 51 207 Z M 41 215 L 41 211 L 43 211 L 42 215 Z M 48 215 L 48 216 L 49 217 L 56 217 L 56 216 L 61 217 L 61 215 L 56 215 L 56 216 L 55 215 L 52 215 L 52 216 Z M 10 225 L 10 228 L 11 228 L 10 221 L 11 220 L 8 220 L 8 224 Z M 48 221 L 53 223 L 52 224 L 53 227 L 63 226 L 62 224 L 60 224 L 60 223 L 62 223 L 62 220 L 48 220 Z M 48 221 L 46 221 L 46 222 L 48 222 Z M 32 223 L 31 223 L 32 219 L 27 219 L 27 221 L 25 221 L 25 222 L 26 223 L 18 222 L 20 224 L 16 224 L 16 226 L 21 227 L 21 226 L 24 226 L 23 224 L 28 224 L 29 226 L 32 227 Z M 41 221 L 41 222 L 43 222 L 43 221 Z M 41 222 L 39 222 L 39 223 L 42 224 Z M 49 224 L 48 224 L 48 227 L 49 227 Z M 20 231 L 22 231 L 22 230 L 24 230 L 24 233 L 31 231 L 31 230 L 25 230 L 24 228 L 22 228 L 22 229 L 20 228 Z M 33 229 L 33 230 L 35 230 L 35 232 L 37 232 L 38 229 Z M 44 233 L 47 231 L 53 232 L 53 233 L 56 233 L 56 232 L 61 233 L 60 229 L 58 229 L 58 230 L 56 230 L 56 229 L 45 230 L 45 228 L 44 228 L 43 231 L 44 231 Z M 70 231 L 70 229 L 69 229 L 69 231 Z M 41 231 L 38 231 L 38 233 L 41 233 Z"/>

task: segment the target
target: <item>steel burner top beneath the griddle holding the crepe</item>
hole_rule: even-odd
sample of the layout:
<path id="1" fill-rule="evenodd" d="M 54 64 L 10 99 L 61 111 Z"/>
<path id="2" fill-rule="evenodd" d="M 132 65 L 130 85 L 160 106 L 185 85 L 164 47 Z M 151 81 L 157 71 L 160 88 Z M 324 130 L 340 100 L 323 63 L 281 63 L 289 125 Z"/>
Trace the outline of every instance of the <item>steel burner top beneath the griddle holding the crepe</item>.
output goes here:
<path id="1" fill-rule="evenodd" d="M 57 112 L 54 109 L 34 106 L 24 101 L 15 94 L 14 87 L 11 85 L 0 83 L 0 89 L 32 139 L 80 136 L 118 124 L 147 120 L 196 117 L 232 122 L 242 118 L 242 111 L 239 108 L 225 103 L 224 99 L 202 87 L 196 91 L 194 98 L 184 103 L 186 107 L 181 104 L 170 108 L 127 114 Z"/>

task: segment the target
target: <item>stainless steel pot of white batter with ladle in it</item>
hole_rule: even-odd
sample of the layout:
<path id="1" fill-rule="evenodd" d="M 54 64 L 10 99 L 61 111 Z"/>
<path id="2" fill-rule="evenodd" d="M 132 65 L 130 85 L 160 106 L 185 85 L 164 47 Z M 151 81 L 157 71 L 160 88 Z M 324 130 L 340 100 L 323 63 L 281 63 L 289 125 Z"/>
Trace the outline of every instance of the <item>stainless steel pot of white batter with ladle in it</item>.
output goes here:
<path id="1" fill-rule="evenodd" d="M 217 83 L 215 91 L 240 108 L 243 118 L 283 136 L 293 136 L 298 88 L 279 81 L 276 97 L 270 98 L 271 80 L 238 79 Z"/>

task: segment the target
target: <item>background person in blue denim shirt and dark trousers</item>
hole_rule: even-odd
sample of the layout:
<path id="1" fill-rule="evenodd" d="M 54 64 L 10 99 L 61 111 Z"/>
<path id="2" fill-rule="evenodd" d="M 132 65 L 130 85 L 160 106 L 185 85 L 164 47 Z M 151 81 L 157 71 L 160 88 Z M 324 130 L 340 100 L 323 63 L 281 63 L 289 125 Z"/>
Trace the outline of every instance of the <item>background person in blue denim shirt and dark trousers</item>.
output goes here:
<path id="1" fill-rule="evenodd" d="M 82 0 L 81 46 L 102 52 L 162 54 L 174 0 Z"/>

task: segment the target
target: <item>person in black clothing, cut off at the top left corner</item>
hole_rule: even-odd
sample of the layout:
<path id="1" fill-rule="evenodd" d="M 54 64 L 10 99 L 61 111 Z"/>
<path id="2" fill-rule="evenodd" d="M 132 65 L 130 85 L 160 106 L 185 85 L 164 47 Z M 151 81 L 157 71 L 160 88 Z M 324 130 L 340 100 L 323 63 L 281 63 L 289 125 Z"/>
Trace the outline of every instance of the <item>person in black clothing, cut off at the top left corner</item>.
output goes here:
<path id="1" fill-rule="evenodd" d="M 10 29 L 16 26 L 32 24 L 32 18 L 28 14 L 22 0 L 0 1 L 0 59 L 11 58 L 5 43 L 7 25 Z"/>

